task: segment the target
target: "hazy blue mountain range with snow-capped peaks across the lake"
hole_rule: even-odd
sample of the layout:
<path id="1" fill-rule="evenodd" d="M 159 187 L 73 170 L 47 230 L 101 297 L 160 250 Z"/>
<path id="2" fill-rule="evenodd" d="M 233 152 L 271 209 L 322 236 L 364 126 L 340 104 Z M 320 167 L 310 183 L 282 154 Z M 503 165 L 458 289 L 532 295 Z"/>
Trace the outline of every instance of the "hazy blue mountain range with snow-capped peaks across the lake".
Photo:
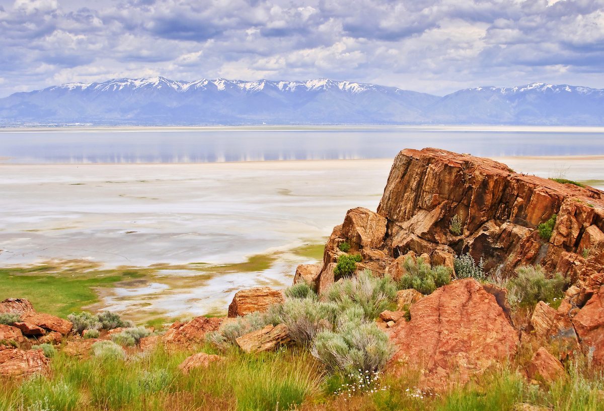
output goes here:
<path id="1" fill-rule="evenodd" d="M 446 96 L 335 81 L 121 78 L 0 99 L 0 125 L 604 125 L 604 89 L 532 83 Z"/>

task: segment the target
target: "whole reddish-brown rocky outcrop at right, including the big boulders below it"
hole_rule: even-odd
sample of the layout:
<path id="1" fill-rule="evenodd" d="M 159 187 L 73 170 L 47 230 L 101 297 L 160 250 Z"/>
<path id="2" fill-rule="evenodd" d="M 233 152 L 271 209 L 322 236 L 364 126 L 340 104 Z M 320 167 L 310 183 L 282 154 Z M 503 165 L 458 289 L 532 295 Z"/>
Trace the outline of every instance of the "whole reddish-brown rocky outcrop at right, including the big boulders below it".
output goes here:
<path id="1" fill-rule="evenodd" d="M 554 215 L 551 236 L 543 239 L 538 226 Z M 455 219 L 458 230 L 452 229 Z M 347 254 L 342 243 L 362 256 L 358 269 L 378 276 L 400 278 L 408 257 L 453 269 L 454 256 L 469 253 L 494 277 L 541 265 L 571 283 L 559 309 L 541 302 L 528 324 L 513 324 L 507 290 L 493 284 L 458 280 L 424 298 L 400 291 L 398 309 L 408 307 L 411 321 L 387 321 L 390 312 L 384 320 L 396 347 L 391 366 L 422 367 L 426 386 L 467 381 L 512 359 L 521 343 L 535 350 L 556 343 L 562 360 L 579 347 L 591 352 L 594 363 L 604 363 L 600 190 L 519 174 L 469 154 L 405 149 L 394 160 L 377 212 L 349 210 L 327 241 L 323 263 L 300 266 L 294 282 L 307 281 L 322 292 L 338 281 L 333 270 Z M 547 357 L 541 354 L 532 373 Z"/>

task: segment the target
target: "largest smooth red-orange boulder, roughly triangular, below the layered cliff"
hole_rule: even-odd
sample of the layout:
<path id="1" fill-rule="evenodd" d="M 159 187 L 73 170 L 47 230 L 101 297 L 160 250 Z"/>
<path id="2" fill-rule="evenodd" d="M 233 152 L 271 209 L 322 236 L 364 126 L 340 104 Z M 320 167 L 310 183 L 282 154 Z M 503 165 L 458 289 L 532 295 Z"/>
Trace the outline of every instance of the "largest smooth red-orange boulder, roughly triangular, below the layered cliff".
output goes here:
<path id="1" fill-rule="evenodd" d="M 472 278 L 440 287 L 410 312 L 411 321 L 391 328 L 391 365 L 422 369 L 422 387 L 465 383 L 515 356 L 518 333 L 495 296 Z"/>

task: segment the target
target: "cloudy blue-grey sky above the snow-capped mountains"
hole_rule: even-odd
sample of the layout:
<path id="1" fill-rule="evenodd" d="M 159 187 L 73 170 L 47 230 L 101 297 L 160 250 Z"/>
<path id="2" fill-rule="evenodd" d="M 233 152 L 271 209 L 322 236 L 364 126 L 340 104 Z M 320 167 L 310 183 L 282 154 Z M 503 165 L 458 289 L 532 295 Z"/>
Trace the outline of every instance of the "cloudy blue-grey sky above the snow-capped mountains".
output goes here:
<path id="1" fill-rule="evenodd" d="M 0 96 L 156 75 L 604 87 L 604 0 L 0 0 Z"/>

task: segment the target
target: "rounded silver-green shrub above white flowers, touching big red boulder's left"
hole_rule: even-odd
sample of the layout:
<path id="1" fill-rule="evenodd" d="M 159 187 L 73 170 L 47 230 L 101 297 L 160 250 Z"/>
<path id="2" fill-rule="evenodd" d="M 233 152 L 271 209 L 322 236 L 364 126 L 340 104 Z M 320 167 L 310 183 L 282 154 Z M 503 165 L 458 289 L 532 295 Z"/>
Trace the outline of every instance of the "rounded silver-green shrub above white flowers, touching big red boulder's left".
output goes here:
<path id="1" fill-rule="evenodd" d="M 316 334 L 311 352 L 330 371 L 353 374 L 384 368 L 393 348 L 374 322 L 350 321 Z"/>

